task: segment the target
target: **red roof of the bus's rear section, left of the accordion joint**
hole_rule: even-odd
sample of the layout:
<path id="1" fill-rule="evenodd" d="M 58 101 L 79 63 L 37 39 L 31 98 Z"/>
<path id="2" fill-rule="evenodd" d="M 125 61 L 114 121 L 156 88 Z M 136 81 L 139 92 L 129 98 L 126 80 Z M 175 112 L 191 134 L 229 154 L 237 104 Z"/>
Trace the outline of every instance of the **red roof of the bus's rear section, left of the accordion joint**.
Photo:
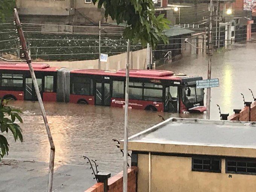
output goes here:
<path id="1" fill-rule="evenodd" d="M 55 72 L 60 67 L 50 67 L 49 64 L 32 63 L 35 71 L 50 71 Z M 29 66 L 24 62 L 0 62 L 0 69 L 5 70 L 29 70 Z"/>

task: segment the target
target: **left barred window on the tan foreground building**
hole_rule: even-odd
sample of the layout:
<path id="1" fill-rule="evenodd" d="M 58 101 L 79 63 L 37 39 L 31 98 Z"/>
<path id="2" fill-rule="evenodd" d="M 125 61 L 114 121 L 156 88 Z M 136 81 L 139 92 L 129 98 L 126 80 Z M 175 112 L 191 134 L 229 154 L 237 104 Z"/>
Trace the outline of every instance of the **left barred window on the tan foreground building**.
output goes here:
<path id="1" fill-rule="evenodd" d="M 221 172 L 221 159 L 212 157 L 192 157 L 192 171 Z"/>

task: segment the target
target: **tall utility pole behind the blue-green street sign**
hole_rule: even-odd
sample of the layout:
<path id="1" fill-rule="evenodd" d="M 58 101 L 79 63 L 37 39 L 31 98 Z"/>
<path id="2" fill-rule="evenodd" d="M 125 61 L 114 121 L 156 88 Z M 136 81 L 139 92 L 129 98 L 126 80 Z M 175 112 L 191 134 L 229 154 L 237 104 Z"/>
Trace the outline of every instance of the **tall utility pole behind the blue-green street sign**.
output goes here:
<path id="1" fill-rule="evenodd" d="M 208 42 L 208 73 L 207 79 L 211 79 L 212 74 L 212 12 L 213 0 L 210 0 L 210 24 L 209 24 L 209 42 Z M 211 88 L 207 88 L 206 95 L 206 119 L 210 119 L 210 102 L 211 102 Z"/>

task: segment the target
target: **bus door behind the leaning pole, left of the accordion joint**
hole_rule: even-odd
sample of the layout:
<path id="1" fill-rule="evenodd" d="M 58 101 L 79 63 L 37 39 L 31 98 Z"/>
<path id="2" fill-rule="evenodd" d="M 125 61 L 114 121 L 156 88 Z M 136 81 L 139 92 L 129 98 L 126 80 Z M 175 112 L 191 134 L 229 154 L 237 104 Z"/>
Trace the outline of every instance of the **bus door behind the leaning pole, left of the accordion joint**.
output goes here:
<path id="1" fill-rule="evenodd" d="M 42 96 L 42 79 L 37 79 L 37 84 Z M 35 93 L 35 87 L 31 78 L 26 78 L 25 81 L 25 90 L 24 90 L 24 100 L 28 101 L 37 101 L 37 95 Z"/>

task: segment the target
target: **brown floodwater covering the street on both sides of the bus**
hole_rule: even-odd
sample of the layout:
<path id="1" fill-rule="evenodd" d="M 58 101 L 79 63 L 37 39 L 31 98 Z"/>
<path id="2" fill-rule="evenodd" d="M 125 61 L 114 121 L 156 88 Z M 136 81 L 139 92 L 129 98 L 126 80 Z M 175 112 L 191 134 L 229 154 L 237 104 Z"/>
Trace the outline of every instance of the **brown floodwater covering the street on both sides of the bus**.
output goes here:
<path id="1" fill-rule="evenodd" d="M 219 119 L 216 104 L 222 113 L 233 113 L 243 107 L 240 93 L 252 101 L 248 88 L 256 96 L 256 43 L 238 44 L 231 50 L 215 53 L 212 78 L 219 78 L 220 87 L 212 88 L 211 119 Z M 184 58 L 159 69 L 207 77 L 207 56 Z M 10 140 L 8 158 L 49 161 L 50 146 L 37 102 L 15 101 L 11 105 L 24 111 L 21 128 L 24 142 Z M 91 105 L 45 103 L 49 125 L 56 147 L 55 161 L 64 164 L 85 164 L 83 155 L 97 160 L 99 171 L 117 173 L 122 170 L 122 153 L 112 139 L 123 137 L 124 109 Z M 130 110 L 129 135 L 138 133 L 178 114 Z M 205 114 L 192 117 L 205 118 Z M 9 134 L 10 135 L 10 134 Z M 10 136 L 8 136 L 11 139 Z"/>

